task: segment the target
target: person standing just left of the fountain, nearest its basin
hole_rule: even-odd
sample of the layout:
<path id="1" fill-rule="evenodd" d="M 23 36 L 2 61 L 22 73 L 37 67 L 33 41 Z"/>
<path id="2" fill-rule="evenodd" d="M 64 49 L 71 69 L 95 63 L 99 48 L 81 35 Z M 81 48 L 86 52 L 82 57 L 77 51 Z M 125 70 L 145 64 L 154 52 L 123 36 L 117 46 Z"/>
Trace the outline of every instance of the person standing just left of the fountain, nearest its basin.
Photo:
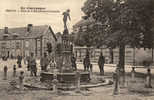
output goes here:
<path id="1" fill-rule="evenodd" d="M 49 64 L 49 59 L 47 57 L 47 54 L 44 53 L 44 57 L 41 57 L 41 60 L 40 60 L 41 70 L 47 71 L 48 64 Z"/>

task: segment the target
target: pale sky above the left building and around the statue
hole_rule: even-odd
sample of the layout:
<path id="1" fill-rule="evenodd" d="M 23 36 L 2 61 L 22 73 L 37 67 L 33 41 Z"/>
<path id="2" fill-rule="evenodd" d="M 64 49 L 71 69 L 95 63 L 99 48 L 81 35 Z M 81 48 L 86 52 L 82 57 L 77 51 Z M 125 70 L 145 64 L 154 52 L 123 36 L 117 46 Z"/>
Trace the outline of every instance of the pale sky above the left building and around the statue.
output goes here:
<path id="1" fill-rule="evenodd" d="M 86 0 L 0 0 L 0 29 L 4 27 L 25 27 L 27 24 L 51 25 L 54 32 L 63 31 L 62 13 L 70 9 L 71 21 L 68 28 L 81 20 L 81 7 Z M 59 13 L 30 13 L 6 12 L 7 9 L 20 10 L 20 7 L 43 7 L 46 10 L 60 11 Z"/>

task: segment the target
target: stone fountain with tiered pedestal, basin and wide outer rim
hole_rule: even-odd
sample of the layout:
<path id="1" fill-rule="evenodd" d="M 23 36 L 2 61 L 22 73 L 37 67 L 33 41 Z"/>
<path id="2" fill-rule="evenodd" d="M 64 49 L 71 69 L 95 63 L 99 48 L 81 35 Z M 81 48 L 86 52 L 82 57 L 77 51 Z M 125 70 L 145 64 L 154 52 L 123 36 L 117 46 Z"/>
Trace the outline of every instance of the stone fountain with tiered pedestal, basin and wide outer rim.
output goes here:
<path id="1" fill-rule="evenodd" d="M 25 87 L 30 89 L 52 89 L 54 92 L 57 92 L 57 89 L 76 89 L 77 92 L 80 92 L 80 88 L 91 88 L 111 84 L 110 80 L 104 80 L 102 76 L 97 77 L 91 75 L 90 78 L 89 71 L 81 71 L 73 67 L 73 46 L 70 42 L 69 30 L 65 20 L 62 42 L 57 44 L 54 52 L 54 60 L 51 60 L 48 65 L 49 69 L 42 71 L 40 77 L 27 77 L 24 83 Z"/>

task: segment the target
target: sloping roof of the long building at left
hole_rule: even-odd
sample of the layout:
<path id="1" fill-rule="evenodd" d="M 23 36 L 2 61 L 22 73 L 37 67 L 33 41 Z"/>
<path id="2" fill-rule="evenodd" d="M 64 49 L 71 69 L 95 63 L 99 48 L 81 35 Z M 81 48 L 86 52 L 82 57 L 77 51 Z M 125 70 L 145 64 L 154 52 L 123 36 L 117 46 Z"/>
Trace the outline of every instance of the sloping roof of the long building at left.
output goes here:
<path id="1" fill-rule="evenodd" d="M 52 28 L 48 25 L 32 26 L 31 32 L 27 32 L 27 27 L 8 28 L 7 39 L 13 39 L 14 34 L 17 35 L 16 39 L 39 38 L 43 36 L 48 29 L 50 29 L 54 39 L 57 40 Z M 4 34 L 4 29 L 0 29 L 0 40 L 4 39 Z"/>

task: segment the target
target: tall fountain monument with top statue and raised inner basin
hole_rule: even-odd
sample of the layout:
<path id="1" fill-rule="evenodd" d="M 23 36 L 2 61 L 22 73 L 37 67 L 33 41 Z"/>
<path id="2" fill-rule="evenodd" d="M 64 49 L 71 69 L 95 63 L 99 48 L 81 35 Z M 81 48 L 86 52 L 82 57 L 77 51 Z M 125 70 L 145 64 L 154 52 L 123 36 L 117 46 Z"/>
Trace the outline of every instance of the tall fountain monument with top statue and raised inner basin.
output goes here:
<path id="1" fill-rule="evenodd" d="M 57 50 L 55 51 L 54 59 L 56 66 L 47 72 L 41 73 L 41 82 L 52 82 L 54 79 L 54 70 L 57 70 L 56 75 L 58 83 L 69 84 L 68 87 L 70 87 L 70 84 L 75 84 L 76 82 L 76 70 L 73 69 L 71 62 L 73 47 L 70 42 L 69 30 L 67 27 L 67 20 L 68 18 L 70 19 L 69 12 L 70 10 L 67 10 L 63 13 L 64 31 L 62 34 L 62 42 L 57 45 Z M 79 71 L 79 73 L 81 82 L 88 82 L 90 80 L 89 72 Z"/>

